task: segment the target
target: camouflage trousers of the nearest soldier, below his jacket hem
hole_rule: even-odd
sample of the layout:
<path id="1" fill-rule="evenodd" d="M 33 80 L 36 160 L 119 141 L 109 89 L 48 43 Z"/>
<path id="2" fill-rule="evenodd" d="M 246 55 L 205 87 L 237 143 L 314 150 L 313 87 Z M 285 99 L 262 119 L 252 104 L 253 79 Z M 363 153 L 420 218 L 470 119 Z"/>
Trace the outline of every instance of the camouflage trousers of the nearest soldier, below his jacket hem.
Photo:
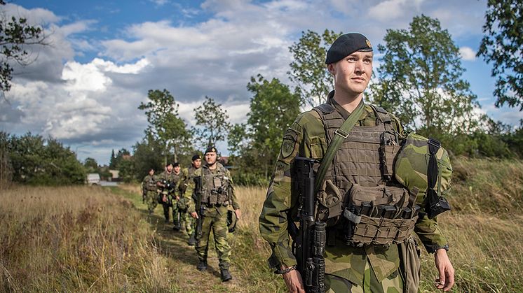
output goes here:
<path id="1" fill-rule="evenodd" d="M 352 292 L 352 293 L 402 293 L 403 281 L 400 269 L 379 282 L 376 279 L 374 270 L 369 261 L 365 264 L 365 275 L 363 276 L 362 286 L 355 285 L 339 276 L 325 274 L 325 292 Z"/>

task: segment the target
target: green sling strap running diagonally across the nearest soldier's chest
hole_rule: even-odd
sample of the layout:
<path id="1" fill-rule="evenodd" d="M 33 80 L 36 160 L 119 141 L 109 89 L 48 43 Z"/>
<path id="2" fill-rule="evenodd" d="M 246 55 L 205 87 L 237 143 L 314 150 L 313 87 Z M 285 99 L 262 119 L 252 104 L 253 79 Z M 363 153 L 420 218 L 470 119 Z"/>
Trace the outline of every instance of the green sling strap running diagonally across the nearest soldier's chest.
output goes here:
<path id="1" fill-rule="evenodd" d="M 363 99 L 361 99 L 358 106 L 353 110 L 353 113 L 348 116 L 344 124 L 341 124 L 341 127 L 334 131 L 334 137 L 327 147 L 327 152 L 325 152 L 325 156 L 323 157 L 320 163 L 320 167 L 318 168 L 318 173 L 316 173 L 314 194 L 318 194 L 318 191 L 320 190 L 323 183 L 323 178 L 325 178 L 325 173 L 327 172 L 327 169 L 329 169 L 330 164 L 332 163 L 332 159 L 334 159 L 334 155 L 339 150 L 341 143 L 345 141 L 345 138 L 347 138 L 356 122 L 358 122 L 360 119 L 364 106 L 365 103 L 363 103 Z"/>

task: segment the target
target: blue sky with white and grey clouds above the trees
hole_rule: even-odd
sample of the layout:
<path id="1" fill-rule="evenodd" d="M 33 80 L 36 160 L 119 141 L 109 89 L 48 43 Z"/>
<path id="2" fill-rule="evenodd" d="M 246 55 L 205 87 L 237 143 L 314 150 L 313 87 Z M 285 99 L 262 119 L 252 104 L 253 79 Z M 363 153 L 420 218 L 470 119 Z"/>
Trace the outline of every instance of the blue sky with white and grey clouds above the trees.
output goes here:
<path id="1" fill-rule="evenodd" d="M 42 24 L 50 46 L 34 48 L 38 58 L 17 68 L 9 103 L 0 102 L 0 130 L 50 135 L 79 159 L 106 164 L 112 149 L 131 149 L 143 137 L 147 120 L 137 106 L 148 90 L 169 90 L 189 125 L 205 96 L 222 103 L 231 122 L 245 122 L 250 76 L 292 85 L 287 48 L 301 31 L 358 31 L 377 45 L 386 29 L 406 29 L 421 13 L 440 20 L 460 48 L 479 111 L 516 125 L 522 113 L 494 107 L 491 66 L 475 58 L 486 6 L 477 0 L 13 1 L 6 15 Z M 226 155 L 226 145 L 219 148 Z"/>

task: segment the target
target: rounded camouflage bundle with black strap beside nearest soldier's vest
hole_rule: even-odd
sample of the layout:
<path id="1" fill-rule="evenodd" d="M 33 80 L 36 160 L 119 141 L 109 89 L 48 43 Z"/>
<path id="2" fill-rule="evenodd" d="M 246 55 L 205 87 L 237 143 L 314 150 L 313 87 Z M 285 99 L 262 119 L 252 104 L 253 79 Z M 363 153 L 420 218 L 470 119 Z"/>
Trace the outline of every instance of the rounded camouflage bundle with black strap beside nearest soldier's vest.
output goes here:
<path id="1" fill-rule="evenodd" d="M 405 138 L 394 163 L 395 178 L 417 194 L 429 218 L 450 210 L 443 196 L 450 189 L 452 166 L 447 150 L 434 138 L 411 133 Z"/>

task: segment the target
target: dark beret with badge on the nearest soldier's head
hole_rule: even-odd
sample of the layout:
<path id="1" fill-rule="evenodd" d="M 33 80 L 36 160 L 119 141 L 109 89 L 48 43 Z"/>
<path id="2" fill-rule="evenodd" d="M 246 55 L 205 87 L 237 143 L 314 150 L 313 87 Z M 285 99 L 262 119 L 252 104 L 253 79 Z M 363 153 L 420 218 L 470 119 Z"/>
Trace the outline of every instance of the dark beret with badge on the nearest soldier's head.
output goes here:
<path id="1" fill-rule="evenodd" d="M 342 34 L 327 51 L 325 64 L 338 62 L 356 51 L 372 52 L 369 39 L 358 33 Z"/>

